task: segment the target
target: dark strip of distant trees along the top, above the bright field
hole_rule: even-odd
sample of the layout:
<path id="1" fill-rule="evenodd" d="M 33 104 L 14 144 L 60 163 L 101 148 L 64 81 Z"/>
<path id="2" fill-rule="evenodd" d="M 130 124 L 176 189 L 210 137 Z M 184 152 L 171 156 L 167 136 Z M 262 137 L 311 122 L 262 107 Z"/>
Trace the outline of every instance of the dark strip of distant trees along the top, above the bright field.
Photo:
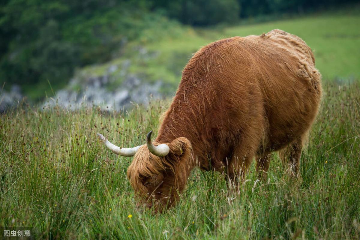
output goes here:
<path id="1" fill-rule="evenodd" d="M 303 13 L 354 0 L 159 0 L 153 9 L 163 9 L 169 17 L 194 26 L 220 22 L 234 23 L 239 18 L 263 14 Z"/>

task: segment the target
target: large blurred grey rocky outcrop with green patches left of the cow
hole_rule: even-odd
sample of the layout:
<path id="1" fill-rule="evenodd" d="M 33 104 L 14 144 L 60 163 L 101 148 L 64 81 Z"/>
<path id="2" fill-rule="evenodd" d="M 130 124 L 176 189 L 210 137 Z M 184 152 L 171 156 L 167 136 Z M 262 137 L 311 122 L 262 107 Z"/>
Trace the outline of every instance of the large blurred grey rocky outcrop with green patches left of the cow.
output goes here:
<path id="1" fill-rule="evenodd" d="M 42 108 L 58 105 L 75 110 L 84 106 L 100 106 L 105 110 L 123 110 L 134 103 L 148 104 L 150 96 L 161 98 L 163 82 L 158 80 L 150 83 L 141 79 L 128 72 L 129 66 L 130 60 L 111 64 L 97 76 L 82 70 L 65 89 L 57 91 L 53 98 L 48 99 Z"/>

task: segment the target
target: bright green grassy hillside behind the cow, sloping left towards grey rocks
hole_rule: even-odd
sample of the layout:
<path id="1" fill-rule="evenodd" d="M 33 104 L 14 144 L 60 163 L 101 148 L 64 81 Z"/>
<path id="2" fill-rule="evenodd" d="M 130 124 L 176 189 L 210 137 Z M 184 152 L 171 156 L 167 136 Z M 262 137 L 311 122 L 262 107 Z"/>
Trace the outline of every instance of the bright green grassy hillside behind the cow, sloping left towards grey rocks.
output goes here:
<path id="1" fill-rule="evenodd" d="M 130 73 L 138 74 L 144 81 L 162 80 L 170 83 L 171 87 L 164 89 L 169 93 L 175 91 L 183 67 L 200 47 L 222 38 L 261 35 L 279 28 L 301 37 L 314 50 L 316 67 L 325 80 L 359 79 L 359 9 L 359 6 L 354 6 L 352 10 L 340 9 L 300 18 L 232 27 L 193 29 L 174 24 L 166 33 L 149 31 L 141 40 L 130 42 L 120 58 L 105 65 L 88 67 L 82 72 L 85 75 L 103 74 L 109 65 L 130 60 Z M 161 27 L 158 26 L 159 29 Z M 139 46 L 145 48 L 148 55 L 139 54 Z M 121 75 L 113 75 L 115 84 L 123 81 Z"/>

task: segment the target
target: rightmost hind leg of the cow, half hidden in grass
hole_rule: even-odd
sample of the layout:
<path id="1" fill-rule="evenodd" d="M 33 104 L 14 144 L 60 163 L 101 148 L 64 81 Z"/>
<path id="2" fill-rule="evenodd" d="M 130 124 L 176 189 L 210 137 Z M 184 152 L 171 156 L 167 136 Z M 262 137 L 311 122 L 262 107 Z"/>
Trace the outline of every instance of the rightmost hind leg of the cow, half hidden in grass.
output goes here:
<path id="1" fill-rule="evenodd" d="M 284 167 L 290 167 L 295 176 L 298 175 L 299 171 L 302 142 L 302 137 L 299 137 L 285 149 L 280 151 L 280 159 L 282 160 Z"/>

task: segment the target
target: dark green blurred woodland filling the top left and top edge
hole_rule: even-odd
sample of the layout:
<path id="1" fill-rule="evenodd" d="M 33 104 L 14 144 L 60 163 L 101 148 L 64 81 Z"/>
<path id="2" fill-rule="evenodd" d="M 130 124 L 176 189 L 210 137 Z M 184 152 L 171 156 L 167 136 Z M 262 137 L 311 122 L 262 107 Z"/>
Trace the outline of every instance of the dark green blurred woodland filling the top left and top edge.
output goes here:
<path id="1" fill-rule="evenodd" d="M 260 14 L 303 12 L 338 2 L 2 0 L 0 79 L 23 87 L 36 86 L 38 92 L 49 87 L 48 81 L 57 88 L 76 68 L 120 55 L 126 42 L 146 38 L 153 29 L 166 33 L 175 24 L 167 17 L 208 26 Z"/>

